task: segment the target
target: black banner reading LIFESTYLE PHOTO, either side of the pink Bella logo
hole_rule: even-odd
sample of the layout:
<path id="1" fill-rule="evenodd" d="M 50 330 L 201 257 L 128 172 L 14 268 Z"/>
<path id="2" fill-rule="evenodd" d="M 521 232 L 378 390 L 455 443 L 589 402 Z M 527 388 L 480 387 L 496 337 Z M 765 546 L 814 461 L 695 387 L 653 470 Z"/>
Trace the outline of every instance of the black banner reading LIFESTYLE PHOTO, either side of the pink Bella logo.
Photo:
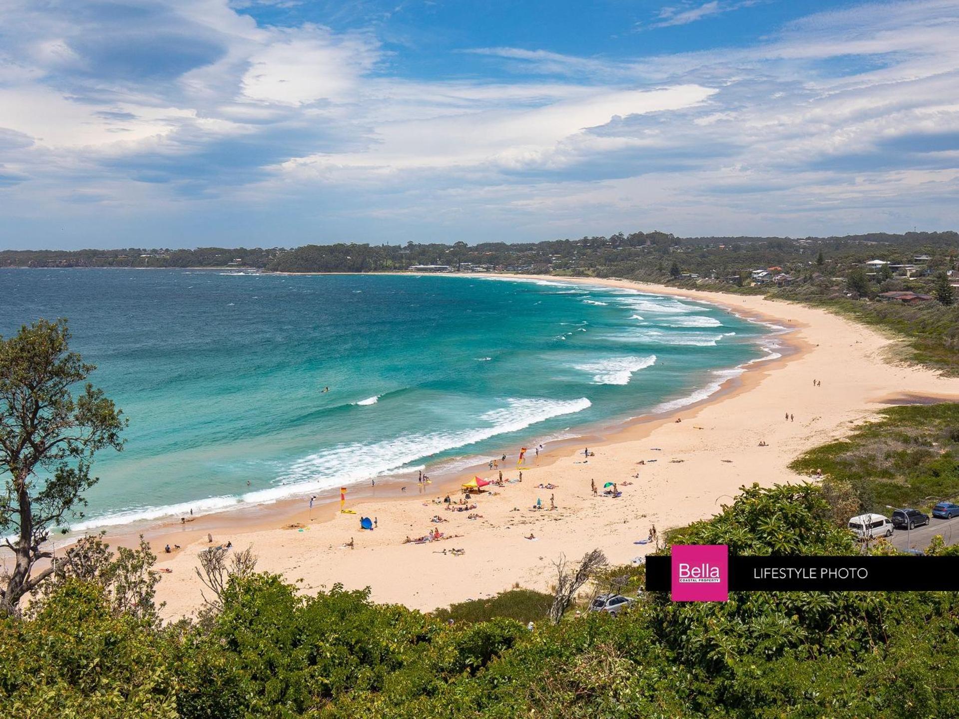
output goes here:
<path id="1" fill-rule="evenodd" d="M 671 557 L 646 557 L 646 591 L 670 591 Z M 959 557 L 734 557 L 729 591 L 959 591 Z"/>

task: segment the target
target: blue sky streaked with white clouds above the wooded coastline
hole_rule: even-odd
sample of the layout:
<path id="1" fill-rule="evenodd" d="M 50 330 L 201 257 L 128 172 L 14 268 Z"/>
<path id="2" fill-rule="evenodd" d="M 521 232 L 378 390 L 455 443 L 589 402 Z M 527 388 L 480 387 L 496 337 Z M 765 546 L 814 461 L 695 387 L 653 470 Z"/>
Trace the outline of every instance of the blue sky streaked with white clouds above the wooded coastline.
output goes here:
<path id="1" fill-rule="evenodd" d="M 0 249 L 959 229 L 959 0 L 2 0 Z"/>

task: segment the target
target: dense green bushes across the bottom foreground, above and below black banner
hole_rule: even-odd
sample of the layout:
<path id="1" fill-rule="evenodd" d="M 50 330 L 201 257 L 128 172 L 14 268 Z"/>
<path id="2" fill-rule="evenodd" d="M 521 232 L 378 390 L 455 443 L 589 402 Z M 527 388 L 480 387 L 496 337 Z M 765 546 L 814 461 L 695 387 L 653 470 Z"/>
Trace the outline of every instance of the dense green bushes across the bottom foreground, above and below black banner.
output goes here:
<path id="1" fill-rule="evenodd" d="M 744 489 L 684 539 L 743 554 L 857 551 L 811 485 Z M 483 620 L 451 626 L 461 605 L 422 615 L 253 574 L 231 578 L 202 625 L 162 628 L 69 577 L 26 618 L 0 622 L 0 715 L 959 716 L 944 690 L 959 685 L 953 593 L 641 596 L 620 617 L 567 615 L 533 632 L 494 616 L 526 599 L 508 592 L 473 606 Z"/>

